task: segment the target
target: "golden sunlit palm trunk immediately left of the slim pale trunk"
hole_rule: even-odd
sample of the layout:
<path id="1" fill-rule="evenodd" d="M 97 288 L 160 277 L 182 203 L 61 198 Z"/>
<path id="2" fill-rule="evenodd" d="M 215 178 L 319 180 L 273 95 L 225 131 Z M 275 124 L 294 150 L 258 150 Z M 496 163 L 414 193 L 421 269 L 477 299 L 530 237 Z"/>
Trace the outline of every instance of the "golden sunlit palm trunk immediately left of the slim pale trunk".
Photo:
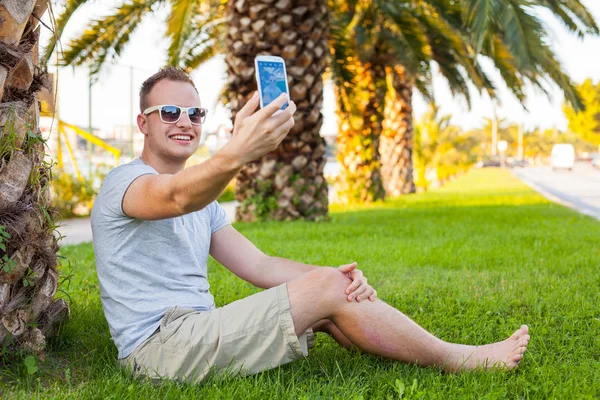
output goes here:
<path id="1" fill-rule="evenodd" d="M 341 164 L 336 195 L 347 204 L 385 198 L 379 156 L 385 68 L 379 56 L 375 52 L 375 58 L 365 64 L 353 62 L 355 82 L 348 107 L 341 104 L 339 89 L 336 96 L 340 115 L 337 158 Z"/>

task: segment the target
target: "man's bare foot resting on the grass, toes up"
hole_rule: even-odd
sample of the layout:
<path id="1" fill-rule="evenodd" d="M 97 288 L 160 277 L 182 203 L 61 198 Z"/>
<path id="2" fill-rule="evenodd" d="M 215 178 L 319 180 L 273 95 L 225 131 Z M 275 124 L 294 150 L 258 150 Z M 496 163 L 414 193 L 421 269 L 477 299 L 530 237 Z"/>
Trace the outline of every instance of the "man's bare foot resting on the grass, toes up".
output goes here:
<path id="1" fill-rule="evenodd" d="M 529 339 L 529 328 L 522 325 L 502 342 L 484 346 L 461 346 L 459 353 L 453 352 L 451 355 L 453 362 L 446 363 L 446 366 L 452 371 L 470 371 L 480 367 L 513 369 L 523 359 Z"/>

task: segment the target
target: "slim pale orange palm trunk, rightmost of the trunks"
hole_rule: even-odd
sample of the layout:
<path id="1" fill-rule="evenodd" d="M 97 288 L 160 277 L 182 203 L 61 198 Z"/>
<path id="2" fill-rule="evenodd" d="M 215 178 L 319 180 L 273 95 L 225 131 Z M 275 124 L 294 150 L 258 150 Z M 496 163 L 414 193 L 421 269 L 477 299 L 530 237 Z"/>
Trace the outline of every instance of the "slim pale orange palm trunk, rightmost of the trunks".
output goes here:
<path id="1" fill-rule="evenodd" d="M 402 66 L 388 68 L 388 100 L 379 143 L 381 174 L 388 196 L 415 192 L 413 180 L 413 84 Z"/>

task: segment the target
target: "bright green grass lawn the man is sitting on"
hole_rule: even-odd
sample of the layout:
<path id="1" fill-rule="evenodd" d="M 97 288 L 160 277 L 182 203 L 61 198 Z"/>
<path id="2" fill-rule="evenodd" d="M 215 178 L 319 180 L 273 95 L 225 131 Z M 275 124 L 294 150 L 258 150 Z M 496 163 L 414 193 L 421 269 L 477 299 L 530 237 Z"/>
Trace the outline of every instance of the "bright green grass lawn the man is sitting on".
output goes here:
<path id="1" fill-rule="evenodd" d="M 2 398 L 598 398 L 600 222 L 549 203 L 503 170 L 440 190 L 342 210 L 325 223 L 237 224 L 267 254 L 316 265 L 357 261 L 379 297 L 438 337 L 532 340 L 513 371 L 446 374 L 349 352 L 317 336 L 308 358 L 245 378 L 137 381 L 116 364 L 91 244 L 64 247 L 71 321 L 39 371 L 0 363 Z M 211 260 L 218 305 L 257 289 Z M 357 321 L 360 323 L 360 321 Z"/>

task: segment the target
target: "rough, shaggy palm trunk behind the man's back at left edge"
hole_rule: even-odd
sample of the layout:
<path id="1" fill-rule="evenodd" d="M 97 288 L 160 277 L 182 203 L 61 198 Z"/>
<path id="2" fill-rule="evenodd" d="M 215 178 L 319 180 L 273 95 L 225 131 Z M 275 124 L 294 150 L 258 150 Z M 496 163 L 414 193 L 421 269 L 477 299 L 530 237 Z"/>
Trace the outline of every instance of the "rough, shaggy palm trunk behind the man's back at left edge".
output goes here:
<path id="1" fill-rule="evenodd" d="M 39 19 L 48 0 L 0 1 L 0 344 L 43 355 L 46 337 L 68 318 L 54 300 L 58 245 L 48 211 L 36 93 Z"/>

